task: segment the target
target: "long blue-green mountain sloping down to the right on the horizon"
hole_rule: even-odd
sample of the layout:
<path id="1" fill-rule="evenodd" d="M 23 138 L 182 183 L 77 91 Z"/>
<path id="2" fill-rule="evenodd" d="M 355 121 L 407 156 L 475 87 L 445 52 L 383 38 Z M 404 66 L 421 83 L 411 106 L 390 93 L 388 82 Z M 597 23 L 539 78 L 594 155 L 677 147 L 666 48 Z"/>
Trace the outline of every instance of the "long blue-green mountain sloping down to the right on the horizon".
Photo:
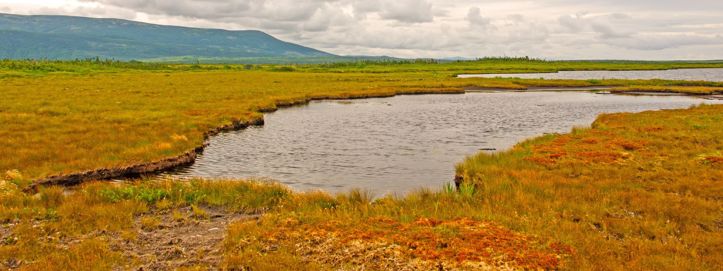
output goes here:
<path id="1" fill-rule="evenodd" d="M 0 59 L 336 57 L 261 31 L 0 13 Z"/>

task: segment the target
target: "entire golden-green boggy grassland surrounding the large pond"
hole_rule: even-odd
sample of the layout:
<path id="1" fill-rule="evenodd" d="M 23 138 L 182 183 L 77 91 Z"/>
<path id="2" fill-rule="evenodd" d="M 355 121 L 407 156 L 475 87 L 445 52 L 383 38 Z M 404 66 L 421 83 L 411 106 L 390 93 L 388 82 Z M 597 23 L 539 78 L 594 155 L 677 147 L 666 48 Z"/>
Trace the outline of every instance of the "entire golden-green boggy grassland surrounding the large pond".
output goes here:
<path id="1" fill-rule="evenodd" d="M 720 82 L 455 76 L 680 68 L 723 62 L 2 60 L 0 262 L 21 270 L 718 270 L 723 105 L 604 114 L 589 128 L 460 157 L 459 187 L 404 197 L 297 193 L 248 180 L 87 175 L 80 185 L 49 185 L 130 165 L 163 169 L 148 163 L 175 161 L 209 135 L 313 99 L 590 86 L 723 92 Z"/>

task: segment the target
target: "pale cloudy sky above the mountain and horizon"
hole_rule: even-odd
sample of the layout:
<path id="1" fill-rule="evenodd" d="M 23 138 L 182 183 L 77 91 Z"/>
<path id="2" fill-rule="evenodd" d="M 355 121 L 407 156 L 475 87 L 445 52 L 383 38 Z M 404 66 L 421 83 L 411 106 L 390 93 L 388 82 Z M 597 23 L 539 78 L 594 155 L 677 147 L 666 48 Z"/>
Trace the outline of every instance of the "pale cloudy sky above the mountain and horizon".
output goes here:
<path id="1" fill-rule="evenodd" d="M 723 59 L 722 0 L 0 0 L 0 13 L 255 29 L 339 55 Z"/>

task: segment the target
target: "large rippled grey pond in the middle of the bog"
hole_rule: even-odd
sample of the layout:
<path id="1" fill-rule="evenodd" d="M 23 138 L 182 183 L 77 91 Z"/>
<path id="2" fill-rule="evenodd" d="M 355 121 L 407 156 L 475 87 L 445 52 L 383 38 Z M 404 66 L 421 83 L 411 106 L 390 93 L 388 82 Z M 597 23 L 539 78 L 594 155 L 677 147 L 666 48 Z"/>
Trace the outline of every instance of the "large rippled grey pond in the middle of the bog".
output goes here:
<path id="1" fill-rule="evenodd" d="M 589 126 L 603 112 L 723 103 L 692 97 L 590 92 L 489 92 L 316 101 L 265 115 L 266 124 L 210 139 L 171 177 L 271 178 L 294 190 L 376 196 L 440 189 L 480 149 Z"/>

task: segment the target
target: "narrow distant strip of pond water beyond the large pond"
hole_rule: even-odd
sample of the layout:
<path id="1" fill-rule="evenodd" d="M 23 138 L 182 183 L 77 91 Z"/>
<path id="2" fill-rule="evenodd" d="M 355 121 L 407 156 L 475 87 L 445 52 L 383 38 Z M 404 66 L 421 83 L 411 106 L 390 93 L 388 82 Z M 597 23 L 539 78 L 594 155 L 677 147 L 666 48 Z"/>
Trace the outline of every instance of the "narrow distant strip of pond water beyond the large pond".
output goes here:
<path id="1" fill-rule="evenodd" d="M 723 69 L 679 69 L 659 71 L 561 71 L 556 73 L 460 74 L 459 78 L 515 77 L 523 79 L 668 79 L 723 81 Z"/>

